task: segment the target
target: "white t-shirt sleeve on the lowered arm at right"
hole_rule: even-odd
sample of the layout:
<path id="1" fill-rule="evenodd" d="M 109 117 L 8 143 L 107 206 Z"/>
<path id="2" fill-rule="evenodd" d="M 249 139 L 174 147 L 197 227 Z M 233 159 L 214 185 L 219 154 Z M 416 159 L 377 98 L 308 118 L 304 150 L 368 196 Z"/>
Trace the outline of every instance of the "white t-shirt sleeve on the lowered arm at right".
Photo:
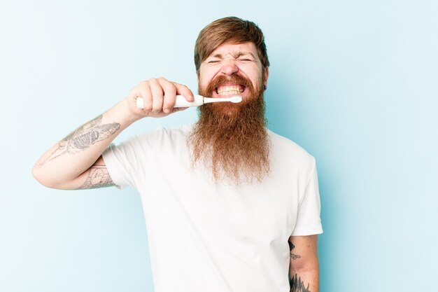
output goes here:
<path id="1" fill-rule="evenodd" d="M 318 174 L 313 159 L 313 169 L 306 184 L 304 194 L 298 206 L 297 222 L 292 236 L 305 236 L 323 233 L 320 219 L 320 196 L 318 188 Z"/>

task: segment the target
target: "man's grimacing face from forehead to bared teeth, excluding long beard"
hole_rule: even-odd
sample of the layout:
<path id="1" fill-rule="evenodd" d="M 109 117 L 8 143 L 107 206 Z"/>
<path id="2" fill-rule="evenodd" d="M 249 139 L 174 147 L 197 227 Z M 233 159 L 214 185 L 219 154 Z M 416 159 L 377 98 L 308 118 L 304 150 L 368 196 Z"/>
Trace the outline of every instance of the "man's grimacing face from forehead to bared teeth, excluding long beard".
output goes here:
<path id="1" fill-rule="evenodd" d="M 253 89 L 266 85 L 268 75 L 254 43 L 224 43 L 202 62 L 198 82 L 209 97 L 241 95 L 245 102 L 253 93 L 250 85 Z"/>

